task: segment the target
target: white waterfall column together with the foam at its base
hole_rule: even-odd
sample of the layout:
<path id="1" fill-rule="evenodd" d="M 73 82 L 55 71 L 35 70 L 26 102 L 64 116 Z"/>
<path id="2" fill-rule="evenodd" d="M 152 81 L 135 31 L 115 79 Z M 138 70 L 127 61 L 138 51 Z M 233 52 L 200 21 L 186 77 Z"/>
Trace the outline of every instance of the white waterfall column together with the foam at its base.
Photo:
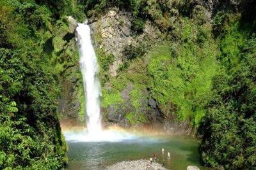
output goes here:
<path id="1" fill-rule="evenodd" d="M 90 27 L 78 24 L 76 28 L 76 39 L 79 45 L 80 67 L 83 74 L 84 96 L 86 100 L 86 125 L 87 130 L 67 131 L 64 136 L 69 142 L 120 142 L 136 139 L 137 137 L 118 129 L 101 128 L 100 117 L 100 81 L 97 78 L 97 57 L 93 50 Z"/>

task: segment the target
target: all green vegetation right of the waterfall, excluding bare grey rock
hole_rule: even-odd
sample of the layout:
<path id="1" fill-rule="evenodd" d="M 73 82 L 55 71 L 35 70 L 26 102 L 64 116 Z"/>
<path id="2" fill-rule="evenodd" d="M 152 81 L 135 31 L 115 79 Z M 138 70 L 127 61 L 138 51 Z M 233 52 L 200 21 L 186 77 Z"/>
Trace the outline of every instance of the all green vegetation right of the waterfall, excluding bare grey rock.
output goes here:
<path id="1" fill-rule="evenodd" d="M 119 103 L 131 124 L 136 113 L 147 121 L 141 108 L 156 99 L 167 118 L 189 122 L 202 135 L 205 165 L 255 169 L 255 4 L 221 1 L 210 24 L 209 9 L 191 0 L 109 2 L 87 1 L 88 14 L 97 17 L 113 6 L 129 10 L 134 36 L 148 20 L 161 31 L 161 43 L 143 39 L 127 46 L 118 76 L 106 81 L 103 101 L 132 87 L 129 99 Z M 120 96 L 111 99 L 118 103 Z"/>

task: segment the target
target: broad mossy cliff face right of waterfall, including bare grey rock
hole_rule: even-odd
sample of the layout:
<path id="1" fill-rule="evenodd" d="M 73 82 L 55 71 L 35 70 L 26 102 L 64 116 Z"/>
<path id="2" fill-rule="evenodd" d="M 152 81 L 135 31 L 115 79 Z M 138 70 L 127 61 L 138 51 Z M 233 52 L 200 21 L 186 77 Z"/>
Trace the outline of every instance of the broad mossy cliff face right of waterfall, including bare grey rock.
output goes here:
<path id="1" fill-rule="evenodd" d="M 154 4 L 150 5 L 159 12 Z M 214 62 L 218 50 L 207 18 L 209 11 L 198 4 L 189 18 L 177 6 L 168 8 L 172 8 L 173 17 L 168 20 L 167 14 L 149 13 L 155 23 L 147 20 L 143 31 L 135 36 L 124 34 L 125 22 L 120 11 L 106 11 L 92 24 L 104 120 L 135 125 L 140 120 L 138 115 L 143 115 L 147 123 L 192 120 L 191 125 L 198 125 L 205 114 L 200 103 L 207 98 L 204 93 L 210 93 L 211 78 L 218 69 Z M 127 28 L 132 32 L 131 27 Z M 121 39 L 122 43 L 130 36 L 132 41 L 122 48 L 113 41 Z M 106 54 L 113 55 L 114 60 Z"/>

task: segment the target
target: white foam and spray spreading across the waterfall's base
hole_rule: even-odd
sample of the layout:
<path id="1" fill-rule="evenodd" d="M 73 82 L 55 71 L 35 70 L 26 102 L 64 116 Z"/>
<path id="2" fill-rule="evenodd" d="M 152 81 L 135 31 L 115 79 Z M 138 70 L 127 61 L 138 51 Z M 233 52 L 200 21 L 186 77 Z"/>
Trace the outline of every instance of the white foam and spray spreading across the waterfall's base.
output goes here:
<path id="1" fill-rule="evenodd" d="M 88 133 L 86 129 L 83 131 L 65 131 L 63 132 L 65 139 L 70 143 L 77 142 L 127 142 L 127 143 L 158 143 L 159 139 L 131 134 L 125 131 L 105 130 L 100 132 Z"/>

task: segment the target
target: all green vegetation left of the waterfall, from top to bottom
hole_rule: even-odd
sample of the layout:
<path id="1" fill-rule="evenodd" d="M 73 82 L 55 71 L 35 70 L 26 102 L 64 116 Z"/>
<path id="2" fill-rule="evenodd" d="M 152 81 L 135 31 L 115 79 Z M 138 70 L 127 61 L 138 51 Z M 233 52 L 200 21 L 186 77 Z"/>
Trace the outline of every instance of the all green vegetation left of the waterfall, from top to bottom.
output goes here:
<path id="1" fill-rule="evenodd" d="M 64 16 L 84 20 L 81 9 L 68 0 L 0 0 L 0 169 L 67 164 L 57 99 L 77 53 Z"/>

